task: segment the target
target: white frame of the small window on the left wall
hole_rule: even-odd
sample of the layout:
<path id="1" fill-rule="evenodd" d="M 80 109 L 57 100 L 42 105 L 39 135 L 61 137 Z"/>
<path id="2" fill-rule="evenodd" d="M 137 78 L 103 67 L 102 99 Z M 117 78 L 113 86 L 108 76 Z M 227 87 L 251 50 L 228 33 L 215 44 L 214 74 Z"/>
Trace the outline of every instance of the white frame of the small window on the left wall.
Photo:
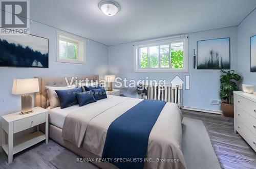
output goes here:
<path id="1" fill-rule="evenodd" d="M 59 58 L 59 41 L 66 41 L 77 45 L 76 60 Z M 86 40 L 78 36 L 57 31 L 57 55 L 56 62 L 86 64 Z"/>

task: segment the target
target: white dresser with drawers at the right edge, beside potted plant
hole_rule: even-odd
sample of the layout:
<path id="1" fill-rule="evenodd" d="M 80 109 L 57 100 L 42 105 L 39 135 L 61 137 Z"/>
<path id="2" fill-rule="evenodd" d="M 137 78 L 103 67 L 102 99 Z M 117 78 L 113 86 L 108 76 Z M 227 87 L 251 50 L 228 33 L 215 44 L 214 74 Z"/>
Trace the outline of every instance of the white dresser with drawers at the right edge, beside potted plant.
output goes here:
<path id="1" fill-rule="evenodd" d="M 256 96 L 234 92 L 234 130 L 256 151 Z"/>

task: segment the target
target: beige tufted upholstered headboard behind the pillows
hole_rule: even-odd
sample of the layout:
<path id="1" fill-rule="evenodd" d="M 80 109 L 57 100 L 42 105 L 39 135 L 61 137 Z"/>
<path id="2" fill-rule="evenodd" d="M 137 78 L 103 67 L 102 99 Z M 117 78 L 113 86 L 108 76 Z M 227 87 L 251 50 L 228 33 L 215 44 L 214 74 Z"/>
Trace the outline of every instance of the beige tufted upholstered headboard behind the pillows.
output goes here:
<path id="1" fill-rule="evenodd" d="M 47 105 L 47 91 L 46 86 L 56 86 L 63 87 L 67 86 L 65 77 L 68 78 L 70 82 L 71 78 L 74 77 L 74 82 L 79 80 L 99 80 L 99 75 L 89 74 L 89 75 L 76 75 L 76 76 L 51 76 L 51 77 L 37 77 L 39 79 L 39 89 L 40 91 L 35 94 L 35 106 L 46 108 Z M 77 78 L 76 78 L 77 77 Z"/>

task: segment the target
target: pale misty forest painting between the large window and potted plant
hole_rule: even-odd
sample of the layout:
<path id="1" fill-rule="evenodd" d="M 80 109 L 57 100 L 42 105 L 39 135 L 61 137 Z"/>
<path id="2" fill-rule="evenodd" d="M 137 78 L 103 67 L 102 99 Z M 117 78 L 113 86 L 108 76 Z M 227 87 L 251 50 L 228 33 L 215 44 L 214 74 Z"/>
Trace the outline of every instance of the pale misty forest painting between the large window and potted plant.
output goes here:
<path id="1" fill-rule="evenodd" d="M 197 41 L 197 69 L 230 69 L 230 38 Z"/>

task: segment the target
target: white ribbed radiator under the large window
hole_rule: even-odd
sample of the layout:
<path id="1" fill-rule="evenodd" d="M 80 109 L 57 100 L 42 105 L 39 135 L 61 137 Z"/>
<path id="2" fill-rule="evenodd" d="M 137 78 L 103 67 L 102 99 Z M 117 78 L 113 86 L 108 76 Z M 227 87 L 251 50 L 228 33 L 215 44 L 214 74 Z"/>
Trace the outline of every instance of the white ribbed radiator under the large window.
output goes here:
<path id="1" fill-rule="evenodd" d="M 140 99 L 162 100 L 177 103 L 182 106 L 182 90 L 178 86 L 165 85 L 164 87 L 152 84 L 143 84 L 146 95 L 138 95 Z"/>

